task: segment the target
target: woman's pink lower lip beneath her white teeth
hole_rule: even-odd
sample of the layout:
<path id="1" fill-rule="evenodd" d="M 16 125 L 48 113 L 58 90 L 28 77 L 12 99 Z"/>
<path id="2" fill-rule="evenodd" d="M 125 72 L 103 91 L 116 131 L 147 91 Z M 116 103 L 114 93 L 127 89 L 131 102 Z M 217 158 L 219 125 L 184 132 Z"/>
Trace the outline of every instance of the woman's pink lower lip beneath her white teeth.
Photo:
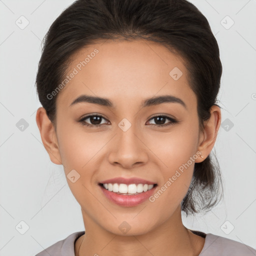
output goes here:
<path id="1" fill-rule="evenodd" d="M 150 195 L 152 195 L 157 187 L 153 186 L 150 190 L 146 192 L 141 192 L 139 194 L 134 195 L 125 195 L 125 194 L 117 194 L 112 191 L 108 191 L 103 186 L 99 185 L 103 194 L 112 202 L 121 205 L 121 206 L 136 206 L 142 202 L 144 202 Z"/>

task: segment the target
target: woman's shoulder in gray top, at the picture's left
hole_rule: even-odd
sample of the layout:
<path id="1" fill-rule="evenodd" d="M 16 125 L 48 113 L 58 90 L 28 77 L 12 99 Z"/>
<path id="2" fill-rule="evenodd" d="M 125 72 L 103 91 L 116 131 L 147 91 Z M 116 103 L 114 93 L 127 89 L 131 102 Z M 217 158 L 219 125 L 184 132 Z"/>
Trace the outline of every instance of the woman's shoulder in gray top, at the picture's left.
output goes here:
<path id="1" fill-rule="evenodd" d="M 74 242 L 82 234 L 84 234 L 84 231 L 69 234 L 63 240 L 55 242 L 35 256 L 74 256 Z"/>

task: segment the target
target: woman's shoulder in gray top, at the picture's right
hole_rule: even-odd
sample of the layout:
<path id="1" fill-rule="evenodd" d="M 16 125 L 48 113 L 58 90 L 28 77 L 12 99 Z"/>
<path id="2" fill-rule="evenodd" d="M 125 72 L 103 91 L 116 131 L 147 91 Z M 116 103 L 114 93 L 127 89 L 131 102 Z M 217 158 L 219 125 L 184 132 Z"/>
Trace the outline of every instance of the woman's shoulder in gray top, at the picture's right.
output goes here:
<path id="1" fill-rule="evenodd" d="M 229 238 L 207 233 L 198 256 L 256 256 L 252 247 Z"/>

